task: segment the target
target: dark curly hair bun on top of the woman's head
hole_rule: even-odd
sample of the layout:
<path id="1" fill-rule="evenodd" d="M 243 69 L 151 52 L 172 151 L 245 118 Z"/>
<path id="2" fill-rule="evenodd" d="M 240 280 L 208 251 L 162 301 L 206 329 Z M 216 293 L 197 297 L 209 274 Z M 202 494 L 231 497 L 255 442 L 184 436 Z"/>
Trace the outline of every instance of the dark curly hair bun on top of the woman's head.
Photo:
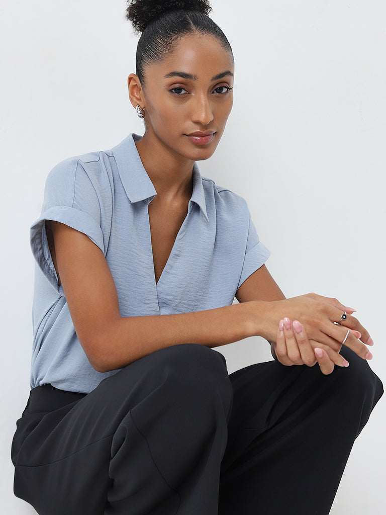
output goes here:
<path id="1" fill-rule="evenodd" d="M 138 32 L 167 11 L 184 9 L 208 14 L 212 7 L 208 0 L 128 0 L 126 18 Z"/>

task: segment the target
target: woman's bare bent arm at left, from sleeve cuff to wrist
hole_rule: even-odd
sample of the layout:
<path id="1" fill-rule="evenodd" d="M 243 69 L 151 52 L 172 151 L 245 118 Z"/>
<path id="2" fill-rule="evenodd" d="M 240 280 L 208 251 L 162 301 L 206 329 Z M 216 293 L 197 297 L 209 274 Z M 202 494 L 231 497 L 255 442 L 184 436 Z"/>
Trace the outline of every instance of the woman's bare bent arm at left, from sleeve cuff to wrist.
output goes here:
<path id="1" fill-rule="evenodd" d="M 96 370 L 121 368 L 158 349 L 187 342 L 218 347 L 253 335 L 275 340 L 286 306 L 259 299 L 196 313 L 121 317 L 115 284 L 101 250 L 75 229 L 59 222 L 50 225 L 58 277 L 79 341 Z M 296 305 L 307 308 L 306 304 L 292 300 L 287 313 L 297 315 Z M 330 316 L 337 317 L 337 311 L 332 313 L 331 308 Z"/>

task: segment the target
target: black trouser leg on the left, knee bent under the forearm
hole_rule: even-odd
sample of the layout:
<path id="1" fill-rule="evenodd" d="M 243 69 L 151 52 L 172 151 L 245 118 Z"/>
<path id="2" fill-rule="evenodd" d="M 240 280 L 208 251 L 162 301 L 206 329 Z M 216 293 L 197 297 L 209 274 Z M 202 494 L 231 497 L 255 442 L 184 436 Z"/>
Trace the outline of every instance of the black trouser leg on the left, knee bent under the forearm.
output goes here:
<path id="1" fill-rule="evenodd" d="M 174 506 L 170 482 L 189 460 L 204 466 L 200 438 L 225 448 L 231 399 L 222 355 L 194 344 L 144 356 L 86 395 L 38 387 L 13 441 L 15 494 L 41 515 L 101 515 L 108 501 L 127 513 L 124 492 L 132 513 L 150 513 L 142 503 L 157 495 Z"/>

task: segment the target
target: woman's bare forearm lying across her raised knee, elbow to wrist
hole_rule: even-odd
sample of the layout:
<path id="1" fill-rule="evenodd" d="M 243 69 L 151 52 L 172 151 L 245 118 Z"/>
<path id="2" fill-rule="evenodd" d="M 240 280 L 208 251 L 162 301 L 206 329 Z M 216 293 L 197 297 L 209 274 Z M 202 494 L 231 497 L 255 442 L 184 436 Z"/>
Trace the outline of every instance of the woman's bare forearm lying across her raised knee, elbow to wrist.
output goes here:
<path id="1" fill-rule="evenodd" d="M 84 331 L 86 336 L 80 340 L 92 366 L 104 372 L 172 345 L 218 347 L 262 334 L 266 304 L 247 302 L 194 313 L 95 320 L 94 330 Z"/>

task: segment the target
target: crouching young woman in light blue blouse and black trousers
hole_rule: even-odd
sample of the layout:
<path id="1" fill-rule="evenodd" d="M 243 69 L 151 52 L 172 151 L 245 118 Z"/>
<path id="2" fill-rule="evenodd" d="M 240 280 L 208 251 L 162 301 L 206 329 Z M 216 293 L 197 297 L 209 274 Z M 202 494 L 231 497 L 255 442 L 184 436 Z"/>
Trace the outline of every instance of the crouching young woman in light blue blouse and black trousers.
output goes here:
<path id="1" fill-rule="evenodd" d="M 326 514 L 382 393 L 354 310 L 285 299 L 245 201 L 200 176 L 233 99 L 209 10 L 129 3 L 145 133 L 55 167 L 31 228 L 32 389 L 12 460 L 42 515 Z M 252 335 L 276 359 L 229 375 L 213 348 Z"/>

